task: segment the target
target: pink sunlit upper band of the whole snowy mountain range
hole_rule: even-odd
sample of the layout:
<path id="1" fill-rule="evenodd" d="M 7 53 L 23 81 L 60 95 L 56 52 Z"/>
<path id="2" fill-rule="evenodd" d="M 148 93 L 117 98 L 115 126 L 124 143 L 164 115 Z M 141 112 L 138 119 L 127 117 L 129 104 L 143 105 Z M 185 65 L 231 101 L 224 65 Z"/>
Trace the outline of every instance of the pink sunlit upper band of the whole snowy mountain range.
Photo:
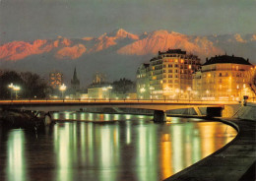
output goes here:
<path id="1" fill-rule="evenodd" d="M 186 35 L 175 31 L 155 30 L 140 36 L 123 29 L 98 37 L 36 39 L 13 41 L 0 45 L 0 61 L 23 60 L 31 55 L 48 55 L 52 59 L 79 59 L 89 54 L 112 53 L 124 56 L 152 56 L 169 48 L 181 48 L 201 58 L 224 54 L 255 57 L 256 34 Z"/>

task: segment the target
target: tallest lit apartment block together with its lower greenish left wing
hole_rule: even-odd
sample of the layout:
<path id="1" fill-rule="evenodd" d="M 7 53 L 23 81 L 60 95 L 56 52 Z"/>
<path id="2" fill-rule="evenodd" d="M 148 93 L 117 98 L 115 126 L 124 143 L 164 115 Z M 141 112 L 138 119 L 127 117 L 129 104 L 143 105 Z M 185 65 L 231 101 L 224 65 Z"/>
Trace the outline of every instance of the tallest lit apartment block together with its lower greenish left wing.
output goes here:
<path id="1" fill-rule="evenodd" d="M 169 49 L 159 52 L 137 71 L 137 92 L 150 94 L 150 98 L 190 98 L 192 91 L 192 73 L 200 68 L 200 59 L 181 49 Z M 148 74 L 149 73 L 149 74 Z M 149 76 L 144 78 L 143 75 Z M 149 79 L 149 84 L 148 80 Z M 149 97 L 144 95 L 145 97 Z"/>

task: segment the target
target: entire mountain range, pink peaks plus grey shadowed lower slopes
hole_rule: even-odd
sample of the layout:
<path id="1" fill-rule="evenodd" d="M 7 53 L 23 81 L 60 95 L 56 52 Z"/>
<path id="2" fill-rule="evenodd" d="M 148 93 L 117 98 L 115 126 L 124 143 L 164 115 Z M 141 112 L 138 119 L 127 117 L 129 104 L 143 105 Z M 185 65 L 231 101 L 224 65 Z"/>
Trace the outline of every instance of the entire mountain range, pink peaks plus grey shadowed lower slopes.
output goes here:
<path id="1" fill-rule="evenodd" d="M 101 71 L 103 66 L 112 77 L 114 74 L 133 77 L 139 64 L 169 48 L 180 48 L 198 55 L 202 63 L 206 57 L 224 53 L 249 58 L 250 62 L 256 63 L 256 33 L 200 36 L 167 30 L 134 34 L 119 29 L 98 37 L 58 36 L 31 42 L 7 42 L 0 45 L 0 68 L 45 72 L 79 65 L 88 70 L 85 74 L 90 75 Z M 126 69 L 129 71 L 124 71 Z"/>

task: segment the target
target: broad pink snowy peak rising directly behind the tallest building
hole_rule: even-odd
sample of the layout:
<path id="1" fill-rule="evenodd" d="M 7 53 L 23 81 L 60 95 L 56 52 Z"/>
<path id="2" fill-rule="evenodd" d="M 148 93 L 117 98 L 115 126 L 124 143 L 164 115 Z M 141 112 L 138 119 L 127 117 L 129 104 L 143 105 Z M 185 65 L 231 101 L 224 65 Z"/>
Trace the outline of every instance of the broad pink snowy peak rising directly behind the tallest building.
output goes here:
<path id="1" fill-rule="evenodd" d="M 181 48 L 203 57 L 224 53 L 222 49 L 216 47 L 205 37 L 191 37 L 167 30 L 153 31 L 145 38 L 128 44 L 117 52 L 125 55 L 147 55 L 157 54 L 159 51 L 166 51 L 169 48 Z"/>

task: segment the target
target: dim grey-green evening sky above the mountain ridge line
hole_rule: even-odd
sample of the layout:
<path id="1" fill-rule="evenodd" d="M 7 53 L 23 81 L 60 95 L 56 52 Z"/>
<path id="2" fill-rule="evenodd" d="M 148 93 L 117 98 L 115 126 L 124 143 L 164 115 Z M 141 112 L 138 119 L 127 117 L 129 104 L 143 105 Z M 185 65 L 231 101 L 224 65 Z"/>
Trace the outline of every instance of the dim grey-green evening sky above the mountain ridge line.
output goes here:
<path id="1" fill-rule="evenodd" d="M 174 30 L 255 33 L 255 0 L 0 0 L 0 43 Z"/>

